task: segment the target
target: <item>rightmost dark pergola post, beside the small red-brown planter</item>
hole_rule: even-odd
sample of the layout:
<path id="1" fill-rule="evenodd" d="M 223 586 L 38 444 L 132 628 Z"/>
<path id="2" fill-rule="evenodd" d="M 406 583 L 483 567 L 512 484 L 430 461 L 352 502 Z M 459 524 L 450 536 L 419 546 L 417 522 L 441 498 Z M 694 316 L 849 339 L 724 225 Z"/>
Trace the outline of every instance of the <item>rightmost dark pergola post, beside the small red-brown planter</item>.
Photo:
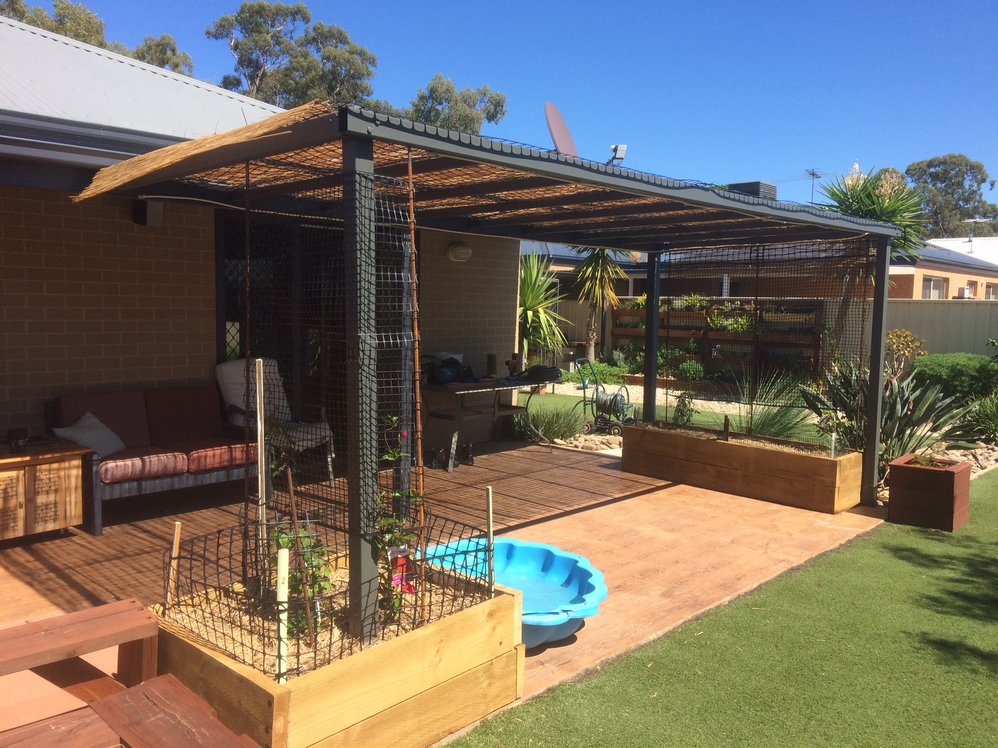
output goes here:
<path id="1" fill-rule="evenodd" d="M 876 506 L 877 460 L 880 453 L 880 416 L 883 400 L 883 344 L 887 337 L 887 284 L 890 273 L 890 237 L 876 240 L 873 271 L 873 327 L 870 333 L 870 377 L 866 390 L 866 448 L 859 501 Z"/>

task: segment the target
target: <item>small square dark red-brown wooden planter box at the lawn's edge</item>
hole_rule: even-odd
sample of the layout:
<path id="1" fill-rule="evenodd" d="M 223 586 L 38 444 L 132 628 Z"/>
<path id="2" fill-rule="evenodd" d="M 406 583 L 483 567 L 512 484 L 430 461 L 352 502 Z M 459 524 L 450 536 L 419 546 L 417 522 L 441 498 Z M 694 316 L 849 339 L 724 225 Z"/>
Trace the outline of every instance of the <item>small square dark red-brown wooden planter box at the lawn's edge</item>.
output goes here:
<path id="1" fill-rule="evenodd" d="M 967 524 L 970 511 L 970 463 L 946 468 L 908 465 L 914 455 L 890 464 L 887 521 L 952 533 Z"/>

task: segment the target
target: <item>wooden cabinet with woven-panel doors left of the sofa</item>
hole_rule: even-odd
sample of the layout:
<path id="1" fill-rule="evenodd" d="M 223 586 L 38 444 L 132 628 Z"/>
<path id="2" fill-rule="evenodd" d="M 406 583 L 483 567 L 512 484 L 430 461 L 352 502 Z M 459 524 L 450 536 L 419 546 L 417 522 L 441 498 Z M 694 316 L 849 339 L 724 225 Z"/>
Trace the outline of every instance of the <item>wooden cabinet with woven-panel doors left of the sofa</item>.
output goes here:
<path id="1" fill-rule="evenodd" d="M 83 463 L 91 450 L 71 442 L 0 448 L 0 540 L 83 522 Z"/>

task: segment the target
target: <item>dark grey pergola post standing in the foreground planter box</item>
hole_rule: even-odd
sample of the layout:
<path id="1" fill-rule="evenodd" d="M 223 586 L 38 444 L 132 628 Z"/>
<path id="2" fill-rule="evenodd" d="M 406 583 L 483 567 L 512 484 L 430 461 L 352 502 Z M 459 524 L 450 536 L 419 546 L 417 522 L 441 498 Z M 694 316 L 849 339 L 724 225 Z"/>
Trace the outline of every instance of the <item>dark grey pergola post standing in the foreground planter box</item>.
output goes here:
<path id="1" fill-rule="evenodd" d="M 343 138 L 349 627 L 363 643 L 377 635 L 375 210 L 373 142 Z"/>

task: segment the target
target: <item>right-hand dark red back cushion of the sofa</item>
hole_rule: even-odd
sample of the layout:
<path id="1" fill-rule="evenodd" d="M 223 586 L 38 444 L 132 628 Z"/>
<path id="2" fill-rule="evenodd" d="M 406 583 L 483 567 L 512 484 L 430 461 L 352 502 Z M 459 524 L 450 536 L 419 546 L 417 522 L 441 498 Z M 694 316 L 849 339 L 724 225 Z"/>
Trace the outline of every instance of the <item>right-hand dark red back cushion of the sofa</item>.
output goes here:
<path id="1" fill-rule="evenodd" d="M 145 395 L 149 435 L 157 447 L 223 438 L 222 403 L 215 385 L 146 390 Z"/>

